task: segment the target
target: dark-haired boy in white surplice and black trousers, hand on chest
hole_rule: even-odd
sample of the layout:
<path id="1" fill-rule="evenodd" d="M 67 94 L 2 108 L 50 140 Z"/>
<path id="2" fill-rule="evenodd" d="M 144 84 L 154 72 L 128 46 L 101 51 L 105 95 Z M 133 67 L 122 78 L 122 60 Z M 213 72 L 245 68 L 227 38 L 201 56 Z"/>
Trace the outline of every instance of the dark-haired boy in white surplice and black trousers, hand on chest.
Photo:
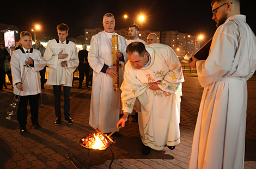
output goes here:
<path id="1" fill-rule="evenodd" d="M 69 35 L 69 27 L 65 23 L 57 26 L 59 39 L 48 41 L 44 60 L 48 67 L 51 67 L 46 85 L 53 86 L 54 109 L 56 115 L 55 124 L 61 123 L 62 111 L 60 108 L 60 96 L 62 85 L 64 90 L 64 117 L 69 124 L 74 123 L 70 118 L 70 90 L 72 87 L 73 73 L 79 64 L 77 48 L 74 42 L 66 39 Z"/>

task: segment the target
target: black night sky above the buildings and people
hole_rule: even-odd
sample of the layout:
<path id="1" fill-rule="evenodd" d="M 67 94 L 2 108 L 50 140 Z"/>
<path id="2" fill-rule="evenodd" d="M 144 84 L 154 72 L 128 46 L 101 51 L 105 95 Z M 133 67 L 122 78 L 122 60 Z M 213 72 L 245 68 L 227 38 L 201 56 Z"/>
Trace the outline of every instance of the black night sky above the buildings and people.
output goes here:
<path id="1" fill-rule="evenodd" d="M 13 24 L 19 32 L 31 30 L 37 23 L 39 32 L 57 36 L 56 26 L 66 23 L 69 37 L 84 35 L 84 28 L 102 28 L 102 16 L 111 12 L 115 16 L 115 29 L 127 28 L 133 23 L 124 15 L 137 19 L 145 16 L 143 23 L 137 21 L 141 30 L 178 30 L 191 35 L 203 34 L 208 41 L 216 30 L 212 20 L 211 0 L 166 0 L 166 1 L 14 1 L 1 2 L 0 23 Z M 256 0 L 243 0 L 241 14 L 247 15 L 247 23 L 256 33 Z M 8 15 L 8 17 L 7 17 Z"/>

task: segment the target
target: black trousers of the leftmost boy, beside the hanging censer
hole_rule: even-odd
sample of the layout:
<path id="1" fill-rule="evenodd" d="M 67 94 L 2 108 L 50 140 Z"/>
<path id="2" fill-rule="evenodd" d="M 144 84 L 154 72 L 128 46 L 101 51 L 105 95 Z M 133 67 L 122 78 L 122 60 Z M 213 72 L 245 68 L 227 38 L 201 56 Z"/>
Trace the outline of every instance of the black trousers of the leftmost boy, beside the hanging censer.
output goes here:
<path id="1" fill-rule="evenodd" d="M 17 120 L 20 123 L 21 127 L 26 127 L 26 124 L 27 124 L 28 101 L 30 105 L 32 124 L 36 124 L 38 122 L 39 98 L 40 98 L 40 93 L 38 93 L 37 95 L 28 95 L 28 96 L 20 97 L 20 103 L 17 111 Z"/>

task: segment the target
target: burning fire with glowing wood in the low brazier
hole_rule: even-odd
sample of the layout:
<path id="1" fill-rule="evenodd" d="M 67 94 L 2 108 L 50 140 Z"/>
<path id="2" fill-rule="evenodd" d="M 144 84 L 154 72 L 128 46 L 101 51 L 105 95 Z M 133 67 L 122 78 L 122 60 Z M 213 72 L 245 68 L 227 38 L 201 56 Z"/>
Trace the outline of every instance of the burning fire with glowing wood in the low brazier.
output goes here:
<path id="1" fill-rule="evenodd" d="M 99 133 L 89 134 L 88 136 L 82 138 L 81 140 L 84 146 L 88 148 L 93 148 L 93 149 L 104 150 L 109 145 L 111 145 L 111 143 L 109 143 L 109 141 Z"/>

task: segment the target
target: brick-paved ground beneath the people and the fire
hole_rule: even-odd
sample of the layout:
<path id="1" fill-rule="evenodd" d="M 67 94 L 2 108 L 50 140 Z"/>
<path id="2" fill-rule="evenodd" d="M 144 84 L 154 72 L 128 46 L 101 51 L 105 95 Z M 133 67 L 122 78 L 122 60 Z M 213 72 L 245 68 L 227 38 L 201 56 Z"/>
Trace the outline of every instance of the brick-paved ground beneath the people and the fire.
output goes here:
<path id="1" fill-rule="evenodd" d="M 88 152 L 80 146 L 80 139 L 94 129 L 89 126 L 89 109 L 91 89 L 77 89 L 78 81 L 71 89 L 70 116 L 75 121 L 64 121 L 55 125 L 54 96 L 52 86 L 42 90 L 39 107 L 41 129 L 32 127 L 28 114 L 27 129 L 29 133 L 20 134 L 17 116 L 6 120 L 9 104 L 14 94 L 11 86 L 0 92 L 0 168 L 88 168 Z M 256 168 L 256 82 L 248 84 L 248 108 L 246 126 L 245 168 Z M 132 117 L 126 127 L 120 129 L 122 137 L 115 137 L 116 143 L 111 147 L 114 161 L 111 168 L 188 168 L 192 148 L 194 128 L 203 87 L 196 74 L 185 74 L 182 84 L 182 101 L 180 117 L 181 143 L 174 150 L 164 147 L 162 151 L 151 150 L 149 155 L 142 154 L 143 144 L 139 137 L 138 123 Z M 63 110 L 62 96 L 62 110 Z M 63 117 L 64 120 L 64 117 Z M 68 159 L 72 160 L 72 162 Z M 108 168 L 112 159 L 111 151 L 94 153 L 91 168 Z"/>

